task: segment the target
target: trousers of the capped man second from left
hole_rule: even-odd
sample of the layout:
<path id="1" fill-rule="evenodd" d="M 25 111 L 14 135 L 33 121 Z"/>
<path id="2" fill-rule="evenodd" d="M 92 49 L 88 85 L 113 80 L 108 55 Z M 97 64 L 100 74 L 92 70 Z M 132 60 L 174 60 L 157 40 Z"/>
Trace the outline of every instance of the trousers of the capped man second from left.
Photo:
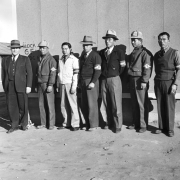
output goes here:
<path id="1" fill-rule="evenodd" d="M 39 84 L 39 110 L 41 125 L 55 125 L 55 104 L 54 104 L 54 89 L 48 93 L 45 87 L 46 84 Z"/>

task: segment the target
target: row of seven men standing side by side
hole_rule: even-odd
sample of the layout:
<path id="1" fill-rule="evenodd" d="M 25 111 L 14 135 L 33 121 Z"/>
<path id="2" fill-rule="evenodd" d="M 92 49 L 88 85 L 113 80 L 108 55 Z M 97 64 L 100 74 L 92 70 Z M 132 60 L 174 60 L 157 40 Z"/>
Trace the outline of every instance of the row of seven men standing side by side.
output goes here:
<path id="1" fill-rule="evenodd" d="M 178 87 L 180 58 L 178 51 L 169 46 L 170 35 L 167 32 L 159 34 L 158 43 L 161 49 L 153 57 L 143 46 L 142 33 L 133 31 L 131 43 L 134 49 L 128 59 L 125 59 L 125 52 L 115 45 L 118 37 L 114 30 L 108 30 L 102 38 L 105 40 L 106 48 L 97 53 L 92 49 L 95 44 L 92 37 L 84 36 L 80 42 L 83 52 L 79 59 L 73 55 L 71 44 L 64 42 L 61 46 L 63 56 L 58 62 L 49 53 L 49 43 L 47 41 L 39 43 L 41 56 L 38 60 L 35 90 L 39 97 L 41 125 L 37 128 L 54 129 L 56 91 L 60 94 L 60 107 L 64 118 L 62 126 L 58 129 L 79 130 L 80 117 L 76 95 L 79 87 L 86 130 L 96 130 L 99 127 L 100 85 L 102 95 L 100 111 L 105 122 L 104 129 L 109 128 L 119 133 L 123 124 L 120 74 L 126 69 L 133 112 L 132 125 L 128 129 L 145 132 L 148 128 L 149 79 L 154 62 L 159 121 L 159 128 L 155 133 L 163 132 L 170 137 L 174 136 L 175 93 Z M 6 58 L 2 64 L 2 83 L 12 122 L 7 133 L 18 130 L 19 126 L 24 131 L 28 129 L 27 94 L 31 92 L 33 76 L 29 58 L 19 54 L 20 42 L 12 40 L 10 48 L 12 56 Z"/>

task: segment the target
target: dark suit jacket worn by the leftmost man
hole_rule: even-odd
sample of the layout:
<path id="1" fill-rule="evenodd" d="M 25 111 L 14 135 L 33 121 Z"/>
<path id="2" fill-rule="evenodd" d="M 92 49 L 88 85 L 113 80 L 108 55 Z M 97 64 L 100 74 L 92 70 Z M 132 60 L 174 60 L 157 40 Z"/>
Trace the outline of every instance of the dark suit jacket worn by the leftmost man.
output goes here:
<path id="1" fill-rule="evenodd" d="M 8 81 L 10 74 L 10 62 L 12 56 L 8 56 L 2 63 L 2 84 L 4 91 L 8 92 Z M 32 67 L 28 57 L 19 55 L 16 60 L 15 88 L 17 92 L 26 92 L 26 87 L 32 86 Z"/>

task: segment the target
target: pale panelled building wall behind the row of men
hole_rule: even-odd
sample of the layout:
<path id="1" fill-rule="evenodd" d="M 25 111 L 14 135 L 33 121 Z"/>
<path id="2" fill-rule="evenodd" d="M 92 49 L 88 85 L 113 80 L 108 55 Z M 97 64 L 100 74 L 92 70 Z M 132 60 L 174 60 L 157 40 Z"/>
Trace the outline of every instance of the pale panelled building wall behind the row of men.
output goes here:
<path id="1" fill-rule="evenodd" d="M 105 47 L 102 36 L 107 29 L 117 32 L 117 44 L 125 45 L 127 54 L 132 51 L 129 37 L 133 30 L 143 32 L 144 46 L 153 54 L 159 50 L 157 36 L 162 31 L 170 33 L 172 47 L 180 47 L 179 0 L 17 0 L 16 3 L 18 38 L 25 44 L 22 53 L 27 48 L 37 49 L 38 42 L 46 39 L 53 55 L 62 55 L 64 41 L 69 41 L 73 52 L 80 54 L 79 42 L 84 35 L 91 35 L 100 50 Z M 153 92 L 153 76 L 150 92 Z"/>

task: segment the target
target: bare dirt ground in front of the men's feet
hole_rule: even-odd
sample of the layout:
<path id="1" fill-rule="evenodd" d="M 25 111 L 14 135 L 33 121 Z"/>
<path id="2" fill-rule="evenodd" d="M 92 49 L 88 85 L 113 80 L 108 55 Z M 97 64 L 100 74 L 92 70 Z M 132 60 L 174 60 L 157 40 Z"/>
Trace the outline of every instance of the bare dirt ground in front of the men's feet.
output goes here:
<path id="1" fill-rule="evenodd" d="M 180 124 L 175 136 L 128 130 L 37 130 L 0 127 L 0 180 L 179 180 Z"/>

